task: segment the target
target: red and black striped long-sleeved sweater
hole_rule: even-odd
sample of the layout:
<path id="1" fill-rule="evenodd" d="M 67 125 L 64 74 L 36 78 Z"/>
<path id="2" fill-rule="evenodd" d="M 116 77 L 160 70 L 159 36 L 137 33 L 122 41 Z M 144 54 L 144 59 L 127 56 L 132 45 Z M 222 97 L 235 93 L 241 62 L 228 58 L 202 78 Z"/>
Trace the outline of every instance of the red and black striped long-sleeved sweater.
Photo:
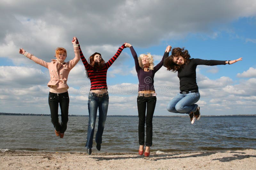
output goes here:
<path id="1" fill-rule="evenodd" d="M 78 44 L 78 41 L 77 41 Z M 87 70 L 88 77 L 90 78 L 91 81 L 91 88 L 90 90 L 100 90 L 100 89 L 108 89 L 107 86 L 107 71 L 108 68 L 114 63 L 114 61 L 117 59 L 117 57 L 121 54 L 124 48 L 124 44 L 118 48 L 116 54 L 106 62 L 103 67 L 100 69 L 94 69 L 84 58 L 84 55 L 82 53 L 82 50 L 80 48 L 80 45 L 78 45 L 79 50 L 80 50 L 80 57 L 81 60 L 84 63 L 84 67 Z"/>

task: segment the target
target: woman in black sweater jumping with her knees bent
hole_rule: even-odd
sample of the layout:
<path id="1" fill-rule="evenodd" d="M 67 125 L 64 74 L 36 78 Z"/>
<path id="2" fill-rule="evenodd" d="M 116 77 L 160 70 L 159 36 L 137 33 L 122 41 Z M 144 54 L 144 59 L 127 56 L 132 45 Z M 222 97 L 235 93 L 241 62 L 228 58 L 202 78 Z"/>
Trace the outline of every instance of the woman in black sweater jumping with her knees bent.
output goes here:
<path id="1" fill-rule="evenodd" d="M 180 93 L 168 103 L 167 110 L 172 113 L 187 113 L 191 124 L 195 122 L 195 119 L 199 120 L 200 107 L 195 104 L 200 98 L 196 84 L 196 66 L 233 64 L 240 60 L 242 57 L 229 61 L 190 59 L 188 50 L 179 47 L 173 48 L 172 55 L 164 59 L 164 67 L 173 72 L 178 71 Z"/>

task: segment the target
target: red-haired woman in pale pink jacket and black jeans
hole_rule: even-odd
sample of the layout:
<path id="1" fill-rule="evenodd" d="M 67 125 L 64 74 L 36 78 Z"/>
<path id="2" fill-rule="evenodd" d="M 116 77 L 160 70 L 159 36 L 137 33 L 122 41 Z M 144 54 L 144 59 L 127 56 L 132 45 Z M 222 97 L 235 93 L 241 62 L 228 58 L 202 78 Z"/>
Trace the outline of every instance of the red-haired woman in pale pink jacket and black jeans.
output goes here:
<path id="1" fill-rule="evenodd" d="M 23 48 L 21 48 L 19 51 L 20 54 L 24 54 L 30 60 L 35 61 L 35 63 L 49 69 L 51 79 L 47 84 L 47 86 L 50 87 L 48 102 L 51 110 L 52 124 L 55 128 L 55 134 L 56 136 L 60 136 L 60 138 L 63 138 L 68 124 L 68 74 L 80 60 L 80 51 L 76 41 L 76 37 L 73 37 L 72 44 L 74 46 L 75 58 L 73 60 L 69 60 L 68 62 L 64 61 L 67 58 L 67 51 L 65 48 L 61 47 L 56 48 L 56 59 L 52 59 L 51 62 L 41 60 L 33 54 L 26 52 Z M 59 123 L 58 115 L 59 103 L 61 111 L 61 123 Z"/>

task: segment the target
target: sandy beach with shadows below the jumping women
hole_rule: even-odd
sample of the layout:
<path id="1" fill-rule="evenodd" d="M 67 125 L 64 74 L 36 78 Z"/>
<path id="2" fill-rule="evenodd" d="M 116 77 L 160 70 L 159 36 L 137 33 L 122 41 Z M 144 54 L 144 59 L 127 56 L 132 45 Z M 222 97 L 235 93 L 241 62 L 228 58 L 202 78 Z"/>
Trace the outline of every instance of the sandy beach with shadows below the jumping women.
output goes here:
<path id="1" fill-rule="evenodd" d="M 256 150 L 137 153 L 1 150 L 1 169 L 256 169 Z"/>

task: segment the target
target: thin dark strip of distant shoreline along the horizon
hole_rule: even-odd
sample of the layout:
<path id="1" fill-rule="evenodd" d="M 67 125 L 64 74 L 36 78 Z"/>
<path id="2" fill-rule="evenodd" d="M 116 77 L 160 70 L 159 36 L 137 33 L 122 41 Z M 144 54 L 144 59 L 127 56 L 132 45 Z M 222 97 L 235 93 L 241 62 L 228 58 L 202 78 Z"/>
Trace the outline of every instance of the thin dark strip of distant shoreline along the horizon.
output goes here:
<path id="1" fill-rule="evenodd" d="M 50 114 L 33 114 L 33 113 L 0 113 L 0 115 L 9 115 L 9 116 L 51 116 Z M 60 115 L 59 115 L 60 116 Z M 68 115 L 70 117 L 89 117 L 89 115 Z M 135 115 L 108 115 L 107 117 L 138 117 Z M 187 117 L 187 115 L 181 116 L 154 116 L 154 117 Z M 256 117 L 254 115 L 202 115 L 201 117 Z"/>

